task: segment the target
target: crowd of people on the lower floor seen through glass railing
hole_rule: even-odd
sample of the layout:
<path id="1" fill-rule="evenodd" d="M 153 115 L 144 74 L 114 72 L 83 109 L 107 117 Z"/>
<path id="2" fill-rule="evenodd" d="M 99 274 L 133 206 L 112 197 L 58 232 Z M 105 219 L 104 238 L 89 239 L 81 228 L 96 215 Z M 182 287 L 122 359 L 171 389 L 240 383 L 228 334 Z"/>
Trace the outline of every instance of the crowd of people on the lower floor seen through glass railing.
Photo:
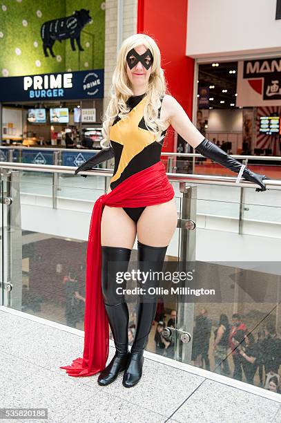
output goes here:
<path id="1" fill-rule="evenodd" d="M 68 275 L 64 277 L 64 285 L 66 324 L 76 328 L 77 323 L 84 318 L 85 298 L 79 294 L 78 281 L 74 272 L 68 272 Z M 151 340 L 154 341 L 152 350 L 159 355 L 175 359 L 175 330 L 173 329 L 177 328 L 177 311 L 171 310 L 167 322 L 165 321 L 166 314 L 164 302 L 159 299 L 153 322 L 155 330 L 151 331 Z M 135 317 L 136 308 L 133 307 L 128 325 L 130 346 L 133 345 L 135 339 Z M 166 327 L 172 329 L 170 333 L 166 332 Z M 217 325 L 213 326 L 206 308 L 202 308 L 195 317 L 192 342 L 191 361 L 194 366 L 238 380 L 243 379 L 244 373 L 245 382 L 258 384 L 270 391 L 281 393 L 279 374 L 281 339 L 271 321 L 267 321 L 255 338 L 251 330 L 246 328 L 240 314 L 233 314 L 231 323 L 226 314 L 220 314 Z M 211 354 L 213 368 L 210 366 Z"/>

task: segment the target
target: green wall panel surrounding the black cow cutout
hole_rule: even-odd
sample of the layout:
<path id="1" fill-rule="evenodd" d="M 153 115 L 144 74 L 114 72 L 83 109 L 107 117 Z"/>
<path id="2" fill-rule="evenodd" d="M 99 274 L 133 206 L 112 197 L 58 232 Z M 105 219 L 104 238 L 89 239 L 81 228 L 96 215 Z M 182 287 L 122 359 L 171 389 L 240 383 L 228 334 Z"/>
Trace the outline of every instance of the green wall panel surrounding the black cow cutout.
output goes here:
<path id="1" fill-rule="evenodd" d="M 45 57 L 41 25 L 90 10 L 92 21 L 81 31 L 79 51 L 70 39 L 55 41 L 56 57 Z M 100 0 L 2 0 L 0 4 L 0 77 L 104 68 L 105 3 Z"/>

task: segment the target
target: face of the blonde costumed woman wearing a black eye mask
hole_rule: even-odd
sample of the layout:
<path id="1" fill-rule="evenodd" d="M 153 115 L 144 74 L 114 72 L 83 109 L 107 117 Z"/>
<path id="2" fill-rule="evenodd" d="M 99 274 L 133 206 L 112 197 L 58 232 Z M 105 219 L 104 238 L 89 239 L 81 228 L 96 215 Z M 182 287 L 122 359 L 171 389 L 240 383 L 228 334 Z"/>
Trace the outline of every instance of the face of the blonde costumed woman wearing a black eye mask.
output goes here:
<path id="1" fill-rule="evenodd" d="M 142 46 L 135 47 L 135 51 L 139 55 L 143 55 L 144 53 L 146 53 L 146 50 L 147 48 L 143 44 Z M 134 63 L 135 56 L 129 55 L 128 60 L 129 62 Z M 146 55 L 146 57 L 144 57 L 144 60 L 147 65 L 151 63 L 151 57 L 149 55 Z M 132 84 L 133 88 L 142 86 L 145 90 L 146 86 L 148 85 L 148 79 L 151 76 L 151 69 L 152 66 L 147 70 L 140 61 L 138 61 L 135 66 L 130 69 L 130 67 L 128 66 L 128 62 L 126 62 L 126 71 L 128 79 L 130 80 L 130 83 Z"/>

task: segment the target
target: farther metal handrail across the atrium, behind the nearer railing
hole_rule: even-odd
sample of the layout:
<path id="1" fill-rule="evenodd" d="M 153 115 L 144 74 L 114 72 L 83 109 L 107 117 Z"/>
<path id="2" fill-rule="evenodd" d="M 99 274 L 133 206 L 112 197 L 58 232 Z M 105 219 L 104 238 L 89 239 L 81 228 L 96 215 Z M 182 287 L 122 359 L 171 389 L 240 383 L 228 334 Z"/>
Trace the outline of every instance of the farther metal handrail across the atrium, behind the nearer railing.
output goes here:
<path id="1" fill-rule="evenodd" d="M 100 149 L 66 149 L 66 148 L 57 148 L 57 147 L 25 147 L 25 146 L 2 146 L 0 145 L 0 149 L 18 149 L 18 150 L 44 150 L 44 151 L 73 151 L 75 153 L 77 153 L 77 151 L 79 152 L 84 152 L 84 153 L 93 153 L 95 151 L 97 151 L 97 153 L 100 151 Z M 169 153 L 167 151 L 163 151 L 161 153 L 161 156 L 176 156 L 176 157 L 201 157 L 202 155 L 200 153 Z M 238 158 L 238 159 L 249 159 L 249 160 L 264 160 L 264 161 L 272 161 L 272 160 L 277 160 L 278 162 L 281 162 L 281 157 L 280 156 L 240 156 L 239 154 L 231 154 L 230 155 L 232 158 Z"/>

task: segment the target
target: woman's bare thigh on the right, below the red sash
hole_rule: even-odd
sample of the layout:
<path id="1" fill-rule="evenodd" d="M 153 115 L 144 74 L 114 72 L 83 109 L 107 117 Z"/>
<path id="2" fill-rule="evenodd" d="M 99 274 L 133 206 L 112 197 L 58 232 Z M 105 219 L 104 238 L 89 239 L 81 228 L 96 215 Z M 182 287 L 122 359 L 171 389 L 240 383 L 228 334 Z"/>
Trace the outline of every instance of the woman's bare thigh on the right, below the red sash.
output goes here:
<path id="1" fill-rule="evenodd" d="M 147 206 L 137 221 L 137 239 L 153 247 L 166 247 L 177 227 L 175 198 L 166 203 Z"/>

